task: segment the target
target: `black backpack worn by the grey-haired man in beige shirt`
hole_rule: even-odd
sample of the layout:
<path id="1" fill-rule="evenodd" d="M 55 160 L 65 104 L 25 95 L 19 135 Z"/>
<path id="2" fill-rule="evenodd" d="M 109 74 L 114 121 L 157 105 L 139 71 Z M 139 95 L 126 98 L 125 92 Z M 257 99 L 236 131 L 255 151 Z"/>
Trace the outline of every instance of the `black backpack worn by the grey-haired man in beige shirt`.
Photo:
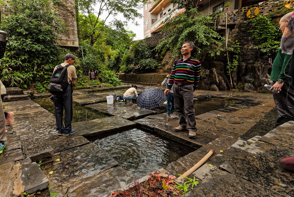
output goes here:
<path id="1" fill-rule="evenodd" d="M 67 86 L 69 85 L 67 82 L 67 67 L 69 66 L 69 64 L 66 66 L 61 66 L 61 64 L 59 64 L 53 72 L 49 83 L 49 92 L 51 94 L 56 95 L 65 92 Z"/>

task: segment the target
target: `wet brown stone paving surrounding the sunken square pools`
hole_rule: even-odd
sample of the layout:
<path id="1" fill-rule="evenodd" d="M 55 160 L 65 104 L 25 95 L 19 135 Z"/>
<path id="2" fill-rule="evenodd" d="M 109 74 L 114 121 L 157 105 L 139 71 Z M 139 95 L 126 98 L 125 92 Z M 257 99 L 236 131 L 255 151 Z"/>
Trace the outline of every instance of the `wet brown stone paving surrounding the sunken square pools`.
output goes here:
<path id="1" fill-rule="evenodd" d="M 172 175 L 183 174 L 208 151 L 215 150 L 189 176 L 200 183 L 185 196 L 294 196 L 294 174 L 283 170 L 278 162 L 280 157 L 294 154 L 294 122 L 270 131 L 277 117 L 273 99 L 197 90 L 194 107 L 198 130 L 196 138 L 189 139 L 188 132 L 173 130 L 178 118 L 167 118 L 165 105 L 153 110 L 129 103 L 107 105 L 106 95 L 122 95 L 129 87 L 74 90 L 74 103 L 105 116 L 72 123 L 76 132 L 68 137 L 58 136 L 54 115 L 25 95 L 19 97 L 25 100 L 4 102 L 7 111 L 14 112 L 15 122 L 6 126 L 8 141 L 0 155 L 0 194 L 9 197 L 27 192 L 49 197 L 55 192 L 64 197 L 103 197 L 127 188 L 135 175 L 119 166 L 121 160 L 110 155 L 111 146 L 107 151 L 99 147 L 99 140 L 140 127 L 194 147 L 163 167 Z M 138 93 L 149 88 L 138 87 Z M 155 88 L 164 90 L 162 86 Z M 48 94 L 35 94 L 31 98 L 46 97 Z"/>

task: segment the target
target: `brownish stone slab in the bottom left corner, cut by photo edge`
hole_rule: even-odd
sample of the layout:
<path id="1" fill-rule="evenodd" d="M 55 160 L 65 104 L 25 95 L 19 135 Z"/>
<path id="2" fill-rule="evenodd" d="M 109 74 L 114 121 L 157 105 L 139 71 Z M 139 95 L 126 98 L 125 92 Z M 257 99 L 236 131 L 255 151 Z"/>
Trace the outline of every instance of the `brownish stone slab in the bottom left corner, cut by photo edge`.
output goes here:
<path id="1" fill-rule="evenodd" d="M 11 161 L 6 164 L 0 165 L 0 195 L 1 196 L 11 196 L 13 191 L 13 170 L 14 162 Z"/>

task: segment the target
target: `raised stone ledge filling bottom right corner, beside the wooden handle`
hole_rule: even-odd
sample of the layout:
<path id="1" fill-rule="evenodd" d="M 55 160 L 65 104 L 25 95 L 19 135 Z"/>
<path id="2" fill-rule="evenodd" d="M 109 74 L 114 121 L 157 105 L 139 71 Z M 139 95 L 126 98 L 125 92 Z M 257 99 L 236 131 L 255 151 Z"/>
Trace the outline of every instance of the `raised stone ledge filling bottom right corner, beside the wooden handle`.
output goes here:
<path id="1" fill-rule="evenodd" d="M 202 166 L 193 173 L 202 181 L 184 196 L 293 196 L 293 172 L 279 165 L 279 158 L 294 154 L 293 126 L 290 121 L 261 138 L 239 139 L 215 157 L 210 171 Z"/>

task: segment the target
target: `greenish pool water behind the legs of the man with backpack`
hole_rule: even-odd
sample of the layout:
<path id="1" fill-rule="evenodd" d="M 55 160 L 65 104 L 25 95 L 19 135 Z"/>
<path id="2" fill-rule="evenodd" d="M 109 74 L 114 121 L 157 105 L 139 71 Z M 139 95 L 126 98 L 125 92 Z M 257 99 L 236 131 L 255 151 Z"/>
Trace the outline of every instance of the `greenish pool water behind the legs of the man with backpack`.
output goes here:
<path id="1" fill-rule="evenodd" d="M 39 105 L 41 105 L 41 107 L 43 107 L 44 109 L 46 109 L 47 111 L 55 115 L 54 104 L 53 102 L 49 100 L 49 98 L 34 99 L 33 101 L 35 103 L 38 103 Z M 107 116 L 102 113 L 90 110 L 86 107 L 73 104 L 72 122 L 82 122 L 82 121 L 88 121 L 88 120 L 99 119 L 104 117 L 107 117 Z M 63 121 L 64 121 L 64 115 L 63 115 Z"/>

